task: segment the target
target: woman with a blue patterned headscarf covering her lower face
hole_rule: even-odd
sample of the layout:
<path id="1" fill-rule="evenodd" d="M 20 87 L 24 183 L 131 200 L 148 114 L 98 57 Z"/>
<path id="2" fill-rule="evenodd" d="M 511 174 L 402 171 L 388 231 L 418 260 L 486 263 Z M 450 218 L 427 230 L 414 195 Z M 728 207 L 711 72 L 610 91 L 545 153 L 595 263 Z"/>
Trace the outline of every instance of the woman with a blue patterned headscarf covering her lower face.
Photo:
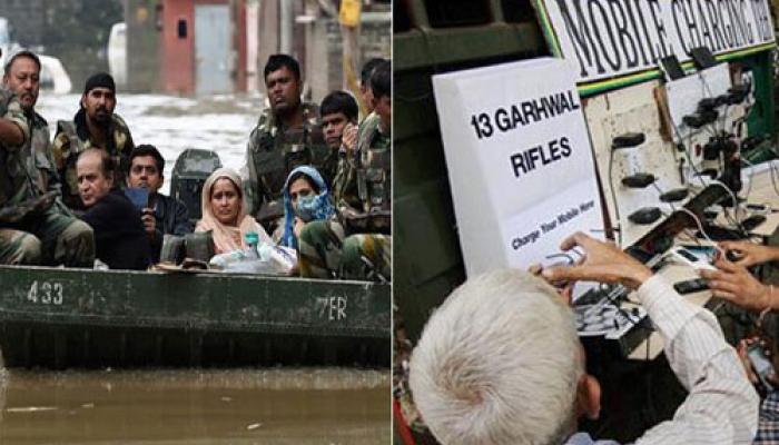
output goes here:
<path id="1" fill-rule="evenodd" d="M 279 244 L 297 250 L 303 226 L 333 215 L 335 207 L 322 175 L 314 167 L 295 168 L 284 184 L 284 235 Z"/>

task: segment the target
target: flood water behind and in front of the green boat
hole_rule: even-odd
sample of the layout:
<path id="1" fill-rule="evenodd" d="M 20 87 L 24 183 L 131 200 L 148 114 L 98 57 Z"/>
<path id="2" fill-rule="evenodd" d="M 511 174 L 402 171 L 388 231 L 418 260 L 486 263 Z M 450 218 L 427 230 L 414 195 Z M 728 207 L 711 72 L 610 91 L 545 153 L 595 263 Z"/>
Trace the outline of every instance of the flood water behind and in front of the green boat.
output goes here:
<path id="1" fill-rule="evenodd" d="M 52 136 L 79 95 L 41 92 Z M 119 93 L 136 144 L 166 159 L 167 191 L 185 148 L 241 169 L 263 97 Z M 0 444 L 388 444 L 389 370 L 8 370 Z"/>

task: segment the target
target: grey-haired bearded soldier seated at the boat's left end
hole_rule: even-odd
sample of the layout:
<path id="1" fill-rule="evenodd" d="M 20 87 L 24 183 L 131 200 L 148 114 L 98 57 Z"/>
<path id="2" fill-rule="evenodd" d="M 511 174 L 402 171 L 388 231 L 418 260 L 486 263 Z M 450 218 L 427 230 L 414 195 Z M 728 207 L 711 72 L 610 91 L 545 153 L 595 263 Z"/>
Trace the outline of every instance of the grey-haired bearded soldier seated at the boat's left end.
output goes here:
<path id="1" fill-rule="evenodd" d="M 8 106 L 6 117 L 14 116 L 14 122 L 23 119 L 23 144 L 13 149 L 12 144 L 0 146 L 4 155 L 8 188 L 0 207 L 12 211 L 4 221 L 0 218 L 0 264 L 65 264 L 73 267 L 91 267 L 95 259 L 92 229 L 70 215 L 60 201 L 60 182 L 55 171 L 49 142 L 49 126 L 34 111 L 38 101 L 40 60 L 30 51 L 20 51 L 6 63 L 3 87 L 16 93 L 3 96 Z M 20 116 L 17 116 L 20 112 Z M 3 119 L 4 120 L 4 119 Z M 7 122 L 7 121 L 6 121 Z M 1 128 L 2 126 L 0 126 Z M 2 131 L 0 131 L 2 135 Z M 4 152 L 3 152 L 4 151 Z"/>

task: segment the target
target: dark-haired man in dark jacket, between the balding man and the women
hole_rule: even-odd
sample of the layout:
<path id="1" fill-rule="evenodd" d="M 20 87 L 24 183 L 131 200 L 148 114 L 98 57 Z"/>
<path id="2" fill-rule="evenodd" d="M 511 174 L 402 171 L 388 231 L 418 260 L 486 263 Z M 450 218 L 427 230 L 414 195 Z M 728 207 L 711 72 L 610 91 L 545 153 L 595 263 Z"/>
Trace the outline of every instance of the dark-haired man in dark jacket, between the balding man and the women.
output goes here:
<path id="1" fill-rule="evenodd" d="M 180 200 L 161 195 L 165 178 L 165 159 L 151 145 L 140 145 L 130 154 L 130 168 L 127 174 L 127 187 L 146 188 L 149 200 L 141 209 L 144 228 L 151 244 L 151 259 L 159 261 L 162 237 L 166 234 L 186 235 L 193 231 L 189 210 Z"/>

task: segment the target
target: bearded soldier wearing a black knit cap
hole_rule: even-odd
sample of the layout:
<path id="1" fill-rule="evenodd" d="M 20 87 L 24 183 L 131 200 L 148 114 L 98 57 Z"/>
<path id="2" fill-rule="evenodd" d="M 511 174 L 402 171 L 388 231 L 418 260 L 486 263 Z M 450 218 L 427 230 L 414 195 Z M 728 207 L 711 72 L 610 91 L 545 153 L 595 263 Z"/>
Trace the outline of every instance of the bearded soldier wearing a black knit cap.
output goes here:
<path id="1" fill-rule="evenodd" d="M 62 198 L 71 209 L 83 209 L 76 177 L 76 158 L 81 151 L 101 148 L 119 166 L 119 174 L 127 174 L 129 156 L 135 145 L 127 123 L 114 112 L 116 103 L 114 78 L 98 72 L 87 79 L 73 120 L 57 122 L 53 155 L 62 178 Z M 122 185 L 124 181 L 115 181 L 115 187 Z"/>

